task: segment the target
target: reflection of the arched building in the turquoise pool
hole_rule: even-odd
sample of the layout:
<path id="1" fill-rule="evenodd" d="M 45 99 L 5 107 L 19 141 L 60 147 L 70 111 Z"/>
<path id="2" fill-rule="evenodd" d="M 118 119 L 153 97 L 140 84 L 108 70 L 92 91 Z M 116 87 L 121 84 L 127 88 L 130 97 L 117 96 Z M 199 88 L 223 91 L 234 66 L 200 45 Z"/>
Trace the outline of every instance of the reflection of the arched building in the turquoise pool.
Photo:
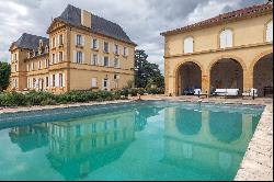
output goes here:
<path id="1" fill-rule="evenodd" d="M 165 109 L 163 162 L 232 179 L 252 138 L 252 114 Z"/>

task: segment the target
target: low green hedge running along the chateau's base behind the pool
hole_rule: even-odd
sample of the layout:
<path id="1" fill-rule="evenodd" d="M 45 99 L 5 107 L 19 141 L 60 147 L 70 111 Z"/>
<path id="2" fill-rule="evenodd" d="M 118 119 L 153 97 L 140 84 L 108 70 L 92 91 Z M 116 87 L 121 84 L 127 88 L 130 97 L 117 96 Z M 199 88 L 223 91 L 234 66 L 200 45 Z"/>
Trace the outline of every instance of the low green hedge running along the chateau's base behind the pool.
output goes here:
<path id="1" fill-rule="evenodd" d="M 122 89 L 119 91 L 69 91 L 61 94 L 53 94 L 49 92 L 31 91 L 27 93 L 18 92 L 0 92 L 0 106 L 26 106 L 26 105 L 56 105 L 76 102 L 90 102 L 90 101 L 113 101 L 126 99 L 128 94 L 136 96 L 137 94 L 144 95 L 162 93 L 162 89 Z M 125 95 L 125 96 L 122 96 Z"/>

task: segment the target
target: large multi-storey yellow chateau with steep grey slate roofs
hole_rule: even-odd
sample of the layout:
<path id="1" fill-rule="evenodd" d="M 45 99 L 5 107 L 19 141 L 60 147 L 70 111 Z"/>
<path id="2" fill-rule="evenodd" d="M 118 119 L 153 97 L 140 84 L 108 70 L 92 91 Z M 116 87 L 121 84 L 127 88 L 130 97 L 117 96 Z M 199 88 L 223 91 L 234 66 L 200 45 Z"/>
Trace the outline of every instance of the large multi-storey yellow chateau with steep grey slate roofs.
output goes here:
<path id="1" fill-rule="evenodd" d="M 47 34 L 12 43 L 10 90 L 117 90 L 134 80 L 136 44 L 118 24 L 69 4 Z"/>

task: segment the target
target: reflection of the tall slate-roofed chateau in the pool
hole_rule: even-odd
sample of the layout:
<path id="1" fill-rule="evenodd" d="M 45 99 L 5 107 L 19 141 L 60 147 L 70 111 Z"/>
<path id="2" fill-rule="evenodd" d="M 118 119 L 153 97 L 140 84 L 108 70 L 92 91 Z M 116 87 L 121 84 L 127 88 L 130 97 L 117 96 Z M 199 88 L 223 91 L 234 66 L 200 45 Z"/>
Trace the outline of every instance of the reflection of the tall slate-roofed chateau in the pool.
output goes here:
<path id="1" fill-rule="evenodd" d="M 148 117 L 160 110 L 139 107 L 69 122 L 14 127 L 10 137 L 23 151 L 42 144 L 48 146 L 46 157 L 55 170 L 66 180 L 83 179 L 117 160 L 135 139 L 135 132 L 144 130 Z"/>

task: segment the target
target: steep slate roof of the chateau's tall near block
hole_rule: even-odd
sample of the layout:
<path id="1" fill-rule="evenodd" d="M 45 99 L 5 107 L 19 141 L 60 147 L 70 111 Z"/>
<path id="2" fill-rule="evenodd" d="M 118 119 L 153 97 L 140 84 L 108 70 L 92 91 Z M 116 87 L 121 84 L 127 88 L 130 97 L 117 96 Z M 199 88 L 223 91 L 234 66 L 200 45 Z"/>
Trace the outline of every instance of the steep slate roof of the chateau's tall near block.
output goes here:
<path id="1" fill-rule="evenodd" d="M 71 4 L 68 4 L 65 11 L 61 13 L 57 20 L 61 20 L 66 23 L 82 26 L 81 25 L 81 9 L 76 8 Z M 85 26 L 82 26 L 85 27 Z M 135 44 L 130 41 L 124 30 L 116 23 L 113 23 L 109 20 L 100 18 L 98 15 L 91 15 L 91 32 L 103 34 L 126 43 Z M 136 44 L 135 44 L 136 45 Z"/>

